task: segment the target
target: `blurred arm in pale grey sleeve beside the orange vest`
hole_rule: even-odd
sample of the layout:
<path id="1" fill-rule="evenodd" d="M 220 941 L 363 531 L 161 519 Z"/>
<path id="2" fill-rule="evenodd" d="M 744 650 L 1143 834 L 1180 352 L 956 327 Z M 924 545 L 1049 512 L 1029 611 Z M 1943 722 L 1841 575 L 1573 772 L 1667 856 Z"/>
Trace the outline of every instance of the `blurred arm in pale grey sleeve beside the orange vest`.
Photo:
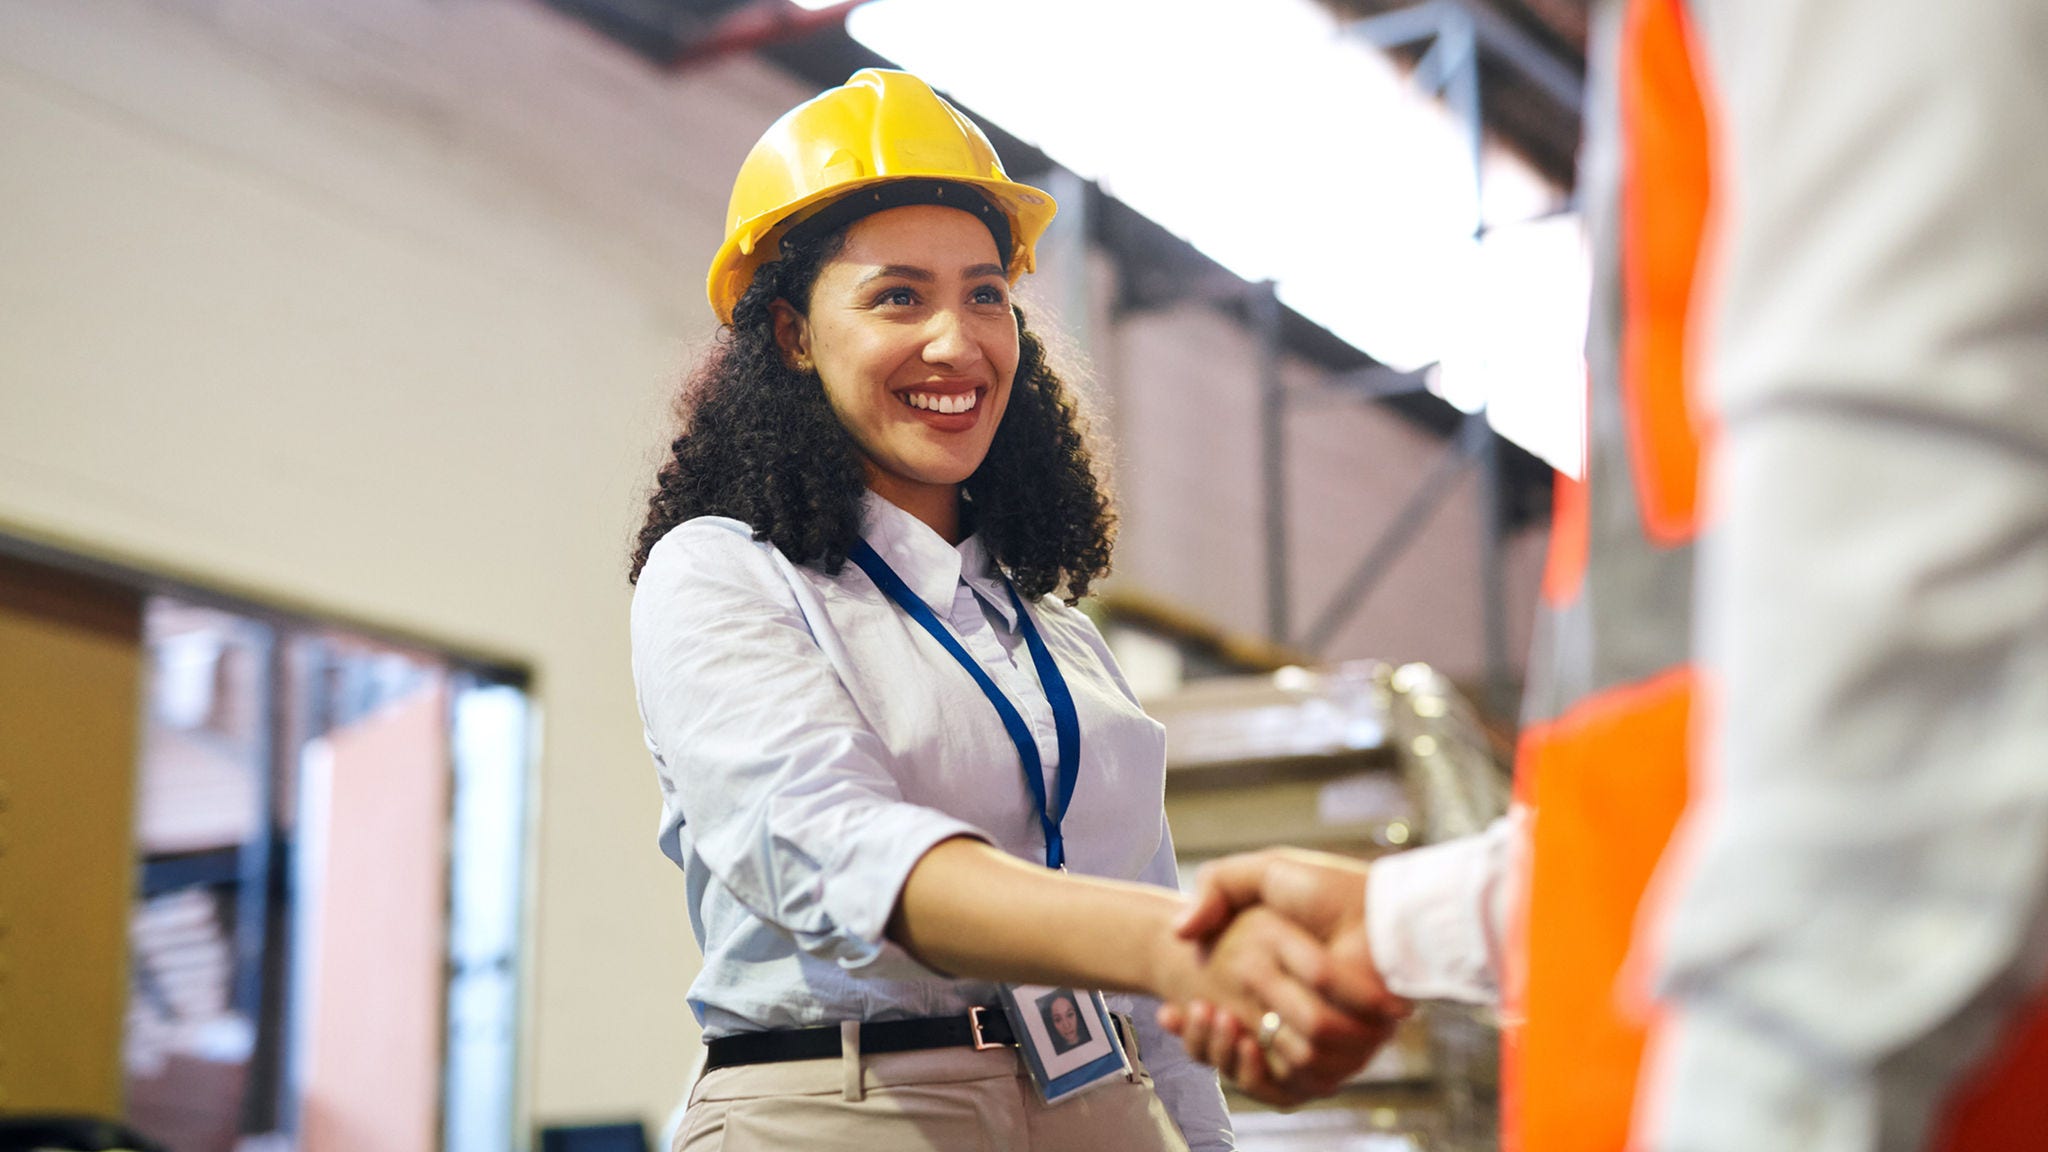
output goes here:
<path id="1" fill-rule="evenodd" d="M 1696 10 L 1710 709 L 1638 1142 L 1921 1146 L 2048 963 L 2048 12 Z"/>

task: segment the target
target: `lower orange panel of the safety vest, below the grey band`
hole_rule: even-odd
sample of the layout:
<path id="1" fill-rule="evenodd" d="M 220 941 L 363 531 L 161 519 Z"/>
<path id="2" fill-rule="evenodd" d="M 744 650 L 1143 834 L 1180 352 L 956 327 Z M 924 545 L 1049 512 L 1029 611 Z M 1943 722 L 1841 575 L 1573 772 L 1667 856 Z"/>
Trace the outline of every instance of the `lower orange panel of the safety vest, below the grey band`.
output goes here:
<path id="1" fill-rule="evenodd" d="M 1522 738 L 1534 801 L 1526 904 L 1505 980 L 1503 1146 L 1614 1152 L 1628 1140 L 1649 1021 L 1616 978 L 1636 906 L 1686 808 L 1692 668 L 1587 697 Z"/>

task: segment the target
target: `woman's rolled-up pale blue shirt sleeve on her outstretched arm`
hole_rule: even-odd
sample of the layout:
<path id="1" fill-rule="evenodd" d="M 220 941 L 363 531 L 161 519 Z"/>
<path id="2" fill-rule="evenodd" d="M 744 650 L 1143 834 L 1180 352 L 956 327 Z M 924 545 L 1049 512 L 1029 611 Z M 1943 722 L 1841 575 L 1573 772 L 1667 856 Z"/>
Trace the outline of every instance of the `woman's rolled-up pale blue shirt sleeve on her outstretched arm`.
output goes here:
<path id="1" fill-rule="evenodd" d="M 633 594 L 633 676 L 666 797 L 662 851 L 811 955 L 930 978 L 885 939 L 889 914 L 926 851 L 989 836 L 903 799 L 795 590 L 741 525 L 692 521 L 655 545 Z"/>

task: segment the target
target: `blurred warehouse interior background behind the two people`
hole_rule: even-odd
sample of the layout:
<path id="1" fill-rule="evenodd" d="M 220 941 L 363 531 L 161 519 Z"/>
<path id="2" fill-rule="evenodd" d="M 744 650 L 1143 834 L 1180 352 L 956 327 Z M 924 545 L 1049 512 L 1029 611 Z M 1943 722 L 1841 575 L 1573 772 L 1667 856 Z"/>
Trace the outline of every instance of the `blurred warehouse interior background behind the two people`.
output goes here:
<path id="1" fill-rule="evenodd" d="M 1247 29 L 1376 102 L 1262 102 Z M 1114 445 L 1087 611 L 1184 875 L 1483 826 L 1579 471 L 1585 45 L 1579 0 L 0 6 L 0 1113 L 666 1148 L 698 953 L 625 566 L 731 172 L 870 66 L 1061 201 L 1020 291 Z M 1423 1013 L 1325 1105 L 1233 1099 L 1241 1148 L 1493 1148 L 1491 1043 Z"/>

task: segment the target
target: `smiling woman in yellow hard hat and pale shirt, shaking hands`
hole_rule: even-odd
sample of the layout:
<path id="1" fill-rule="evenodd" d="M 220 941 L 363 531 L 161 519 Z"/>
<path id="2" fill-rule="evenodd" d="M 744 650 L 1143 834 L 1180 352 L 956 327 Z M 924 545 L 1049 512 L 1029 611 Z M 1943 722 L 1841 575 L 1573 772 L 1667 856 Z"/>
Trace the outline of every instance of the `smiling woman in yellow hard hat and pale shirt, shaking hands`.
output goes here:
<path id="1" fill-rule="evenodd" d="M 1010 301 L 1051 215 L 899 72 L 797 107 L 739 172 L 727 330 L 633 558 L 662 847 L 705 949 L 684 1150 L 1231 1146 L 1214 1076 L 1135 996 L 1110 998 L 1135 1074 L 1049 1107 L 967 974 L 1284 1006 L 1296 1064 L 1362 1035 L 1278 916 L 1212 953 L 1171 933 L 1163 734 L 1069 607 L 1114 519 Z"/>

